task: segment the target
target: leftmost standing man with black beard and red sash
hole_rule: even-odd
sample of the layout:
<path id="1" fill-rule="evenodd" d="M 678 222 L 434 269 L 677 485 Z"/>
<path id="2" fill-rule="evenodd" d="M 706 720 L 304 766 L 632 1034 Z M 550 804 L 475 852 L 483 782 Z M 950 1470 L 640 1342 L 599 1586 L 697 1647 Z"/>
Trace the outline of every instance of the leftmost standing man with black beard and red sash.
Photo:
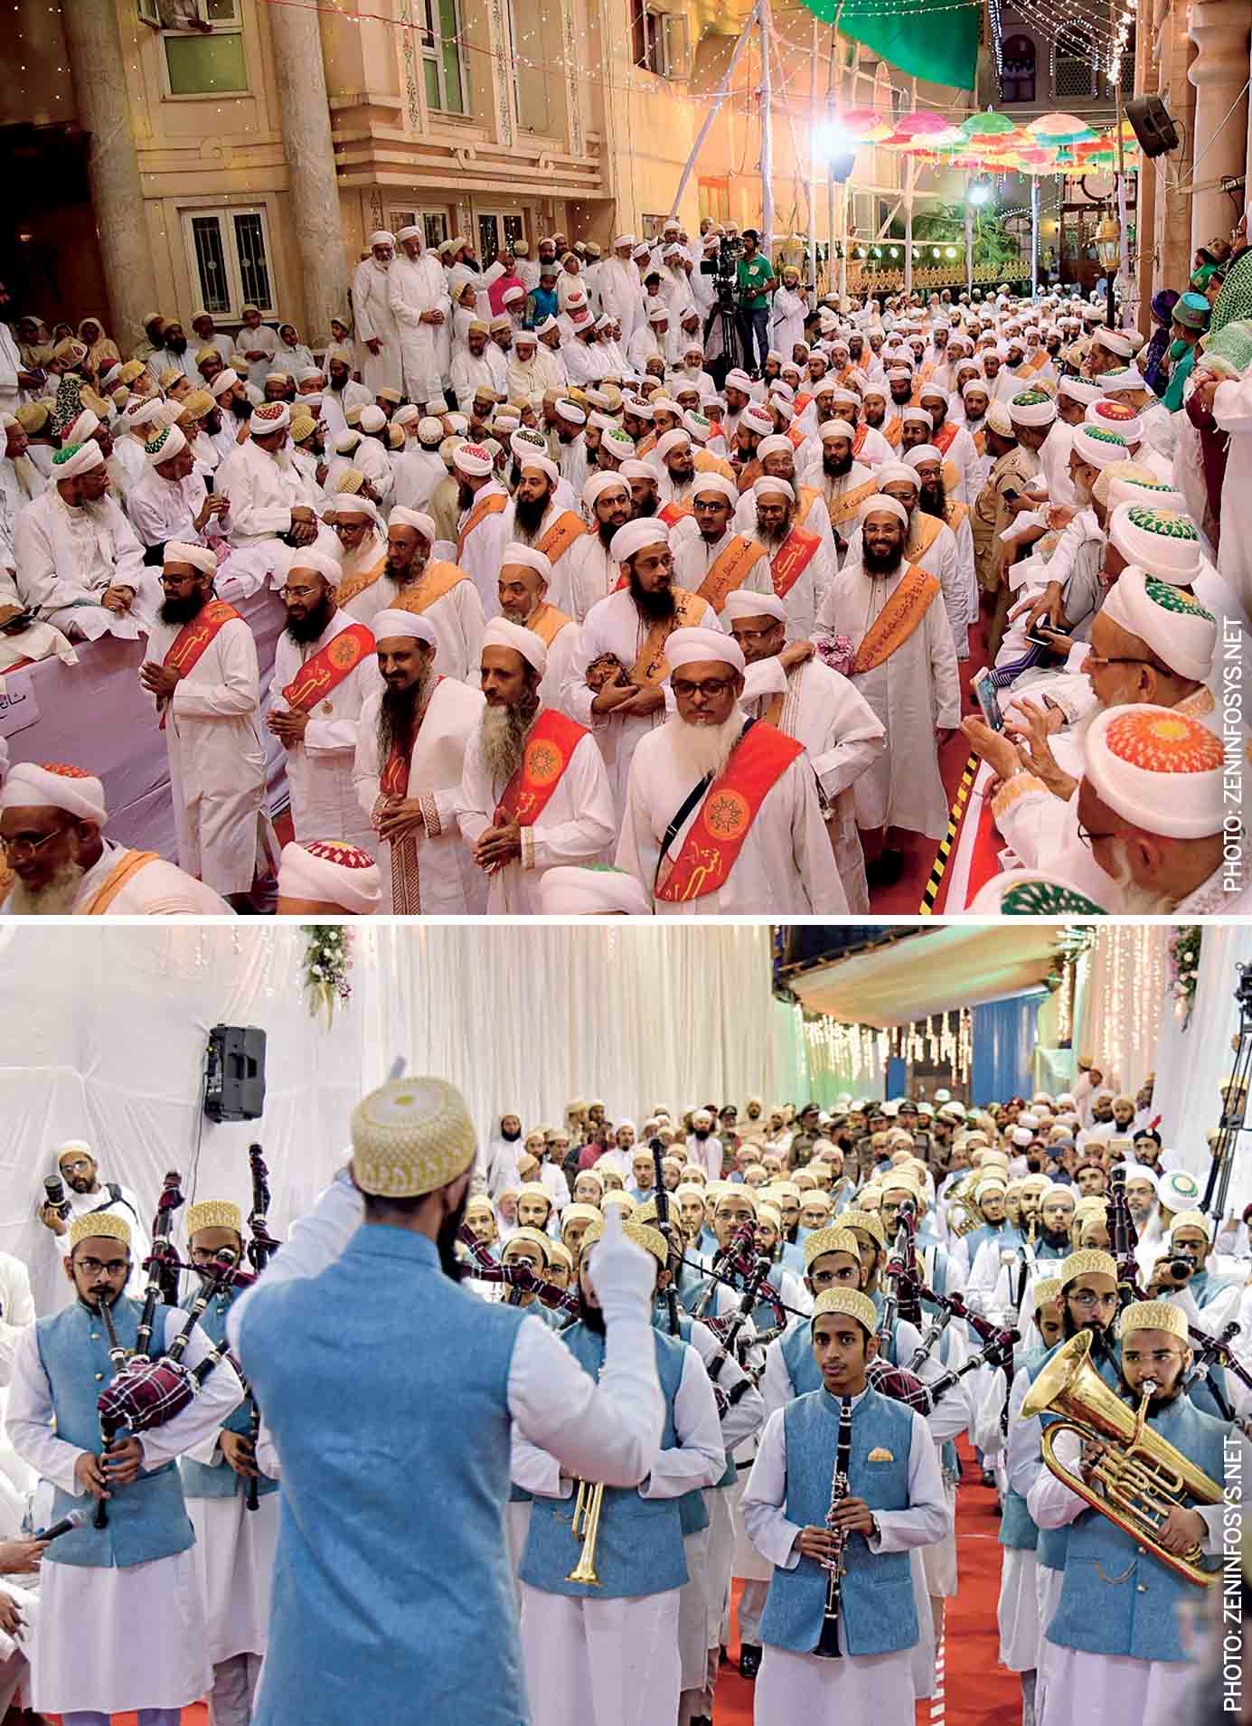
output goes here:
<path id="1" fill-rule="evenodd" d="M 178 861 L 243 911 L 266 835 L 272 841 L 260 673 L 247 621 L 214 597 L 216 573 L 217 559 L 205 545 L 166 544 L 166 601 L 148 635 L 140 682 L 166 734 Z M 269 849 L 278 860 L 278 846 Z"/>

